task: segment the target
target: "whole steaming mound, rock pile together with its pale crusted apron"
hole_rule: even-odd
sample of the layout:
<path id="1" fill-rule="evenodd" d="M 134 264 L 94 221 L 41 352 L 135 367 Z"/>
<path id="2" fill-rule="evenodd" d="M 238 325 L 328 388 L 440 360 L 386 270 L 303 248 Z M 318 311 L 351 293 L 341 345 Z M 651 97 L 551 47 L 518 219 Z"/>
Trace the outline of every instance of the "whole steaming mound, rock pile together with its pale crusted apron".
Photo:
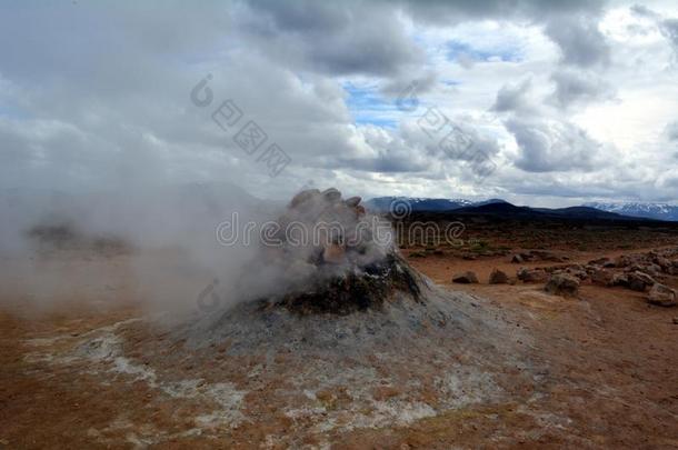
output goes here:
<path id="1" fill-rule="evenodd" d="M 291 223 L 321 239 L 300 240 Z M 300 192 L 245 269 L 261 281 L 228 287 L 239 301 L 103 328 L 78 358 L 187 402 L 197 433 L 280 448 L 363 448 L 369 430 L 505 411 L 538 386 L 544 369 L 516 319 L 419 274 L 382 226 L 357 197 Z"/>

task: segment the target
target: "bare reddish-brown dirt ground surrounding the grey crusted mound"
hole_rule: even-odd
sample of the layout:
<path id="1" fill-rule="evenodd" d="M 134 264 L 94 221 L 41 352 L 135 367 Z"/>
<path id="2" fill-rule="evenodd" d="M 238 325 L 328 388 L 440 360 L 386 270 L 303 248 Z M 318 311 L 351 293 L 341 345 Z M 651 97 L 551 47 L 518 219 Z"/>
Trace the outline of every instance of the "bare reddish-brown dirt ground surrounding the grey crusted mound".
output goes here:
<path id="1" fill-rule="evenodd" d="M 622 250 L 554 248 L 558 247 L 568 262 L 586 262 L 678 244 L 665 238 L 660 246 L 647 243 L 639 242 L 638 248 L 625 243 Z M 508 247 L 519 250 L 510 242 Z M 541 247 L 548 248 L 548 242 Z M 421 249 L 405 253 L 416 251 Z M 109 264 L 124 279 L 124 258 L 109 257 L 103 266 Z M 546 388 L 535 392 L 528 387 L 516 401 L 476 404 L 405 426 L 356 428 L 331 436 L 330 447 L 678 448 L 677 308 L 649 306 L 645 294 L 622 288 L 585 284 L 579 298 L 566 299 L 545 293 L 542 284 L 488 284 L 493 268 L 515 276 L 522 266 L 552 264 L 515 264 L 510 254 L 463 259 L 429 252 L 409 260 L 446 289 L 489 299 L 519 318 L 516 327 L 534 337 L 530 352 L 548 367 L 541 373 L 548 381 Z M 476 271 L 480 283 L 452 284 L 452 274 L 462 270 Z M 678 287 L 675 277 L 668 282 Z M 110 286 L 93 283 L 92 292 L 110 296 Z M 243 423 L 223 436 L 219 436 L 220 430 L 200 433 L 189 419 L 205 409 L 200 401 L 161 400 L 149 382 L 138 377 L 130 381 L 124 371 L 102 381 L 88 372 L 86 362 L 59 363 L 50 357 L 61 354 L 72 340 L 91 330 L 144 313 L 127 288 L 113 289 L 116 302 L 92 304 L 76 296 L 57 309 L 41 311 L 21 304 L 12 297 L 17 292 L 3 290 L 2 296 L 0 449 L 286 447 L 267 438 L 272 431 L 285 433 L 285 421 L 272 431 L 266 423 Z M 380 394 L 388 397 L 389 392 Z M 341 396 L 331 399 L 346 401 Z M 298 429 L 292 419 L 285 420 L 290 429 Z M 162 439 L 146 439 L 149 436 Z M 305 446 L 327 447 L 310 434 Z"/>

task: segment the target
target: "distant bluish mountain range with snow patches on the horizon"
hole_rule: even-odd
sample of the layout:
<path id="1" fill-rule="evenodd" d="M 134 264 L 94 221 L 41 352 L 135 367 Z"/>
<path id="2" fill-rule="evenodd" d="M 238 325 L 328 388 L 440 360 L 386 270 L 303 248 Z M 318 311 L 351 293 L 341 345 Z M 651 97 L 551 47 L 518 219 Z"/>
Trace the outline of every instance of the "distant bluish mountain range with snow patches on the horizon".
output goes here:
<path id="1" fill-rule="evenodd" d="M 411 197 L 379 197 L 366 201 L 367 208 L 387 212 L 396 208 L 402 210 L 403 206 L 411 212 L 442 212 L 456 213 L 502 214 L 511 217 L 559 217 L 570 219 L 608 219 L 608 220 L 676 220 L 678 221 L 678 207 L 669 204 L 628 203 L 605 204 L 587 203 L 569 208 L 530 208 L 517 207 L 501 199 L 485 201 L 470 201 L 465 199 L 427 199 Z"/>

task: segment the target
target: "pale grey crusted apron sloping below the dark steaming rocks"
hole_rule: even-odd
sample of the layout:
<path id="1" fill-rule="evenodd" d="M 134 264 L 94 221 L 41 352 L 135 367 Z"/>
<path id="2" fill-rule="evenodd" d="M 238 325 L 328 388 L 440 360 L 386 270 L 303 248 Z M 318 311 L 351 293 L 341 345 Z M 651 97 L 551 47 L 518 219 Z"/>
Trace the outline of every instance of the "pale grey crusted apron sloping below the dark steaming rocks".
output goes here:
<path id="1" fill-rule="evenodd" d="M 286 447 L 500 410 L 537 388 L 525 331 L 485 300 L 418 286 L 419 301 L 396 290 L 346 314 L 258 301 L 169 329 L 124 322 L 86 337 L 76 357 L 188 402 L 200 432 L 242 441 L 266 430 Z"/>

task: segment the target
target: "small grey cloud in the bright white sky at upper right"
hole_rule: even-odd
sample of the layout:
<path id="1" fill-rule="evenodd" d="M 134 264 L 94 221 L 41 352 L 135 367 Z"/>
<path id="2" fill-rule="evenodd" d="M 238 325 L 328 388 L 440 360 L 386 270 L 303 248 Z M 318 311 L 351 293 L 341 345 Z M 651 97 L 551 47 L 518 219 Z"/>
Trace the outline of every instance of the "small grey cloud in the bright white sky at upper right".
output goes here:
<path id="1" fill-rule="evenodd" d="M 590 71 L 559 69 L 551 73 L 556 83 L 552 99 L 560 107 L 595 100 L 610 100 L 615 97 L 614 88 Z"/>

